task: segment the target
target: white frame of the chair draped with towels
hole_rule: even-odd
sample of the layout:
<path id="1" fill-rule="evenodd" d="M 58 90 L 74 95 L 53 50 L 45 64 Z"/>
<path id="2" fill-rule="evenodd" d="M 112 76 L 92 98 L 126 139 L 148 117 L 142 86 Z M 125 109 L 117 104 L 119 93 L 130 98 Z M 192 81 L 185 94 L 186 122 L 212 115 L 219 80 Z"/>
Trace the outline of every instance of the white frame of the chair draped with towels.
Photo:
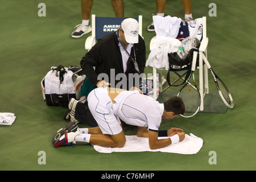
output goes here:
<path id="1" fill-rule="evenodd" d="M 200 95 L 201 95 L 200 111 L 203 111 L 204 110 L 204 96 L 205 96 L 205 94 L 209 93 L 208 68 L 207 68 L 207 65 L 203 65 L 203 55 L 207 58 L 208 38 L 207 38 L 207 18 L 206 18 L 206 16 L 203 16 L 203 18 L 201 18 L 201 19 L 203 20 L 203 38 L 201 39 L 200 47 L 199 47 L 199 67 L 197 67 L 197 69 L 199 69 L 199 91 L 200 91 Z M 151 39 L 150 51 L 152 51 L 152 49 L 155 47 L 154 40 L 155 40 L 156 36 L 154 36 L 154 38 Z M 157 80 L 157 74 L 156 74 L 157 72 L 159 75 L 158 80 Z M 157 99 L 158 92 L 161 93 L 169 87 L 169 86 L 167 86 L 167 88 L 163 89 L 164 78 L 161 75 L 162 75 L 162 70 L 159 70 L 159 69 L 156 69 L 153 67 L 153 90 L 154 90 L 153 97 L 155 100 Z M 183 78 L 178 73 L 176 73 L 176 75 L 178 75 L 179 78 Z M 183 74 L 183 75 L 185 75 L 185 74 Z M 179 78 L 177 78 L 177 79 L 179 79 Z M 157 81 L 159 81 L 159 84 L 157 84 Z"/>

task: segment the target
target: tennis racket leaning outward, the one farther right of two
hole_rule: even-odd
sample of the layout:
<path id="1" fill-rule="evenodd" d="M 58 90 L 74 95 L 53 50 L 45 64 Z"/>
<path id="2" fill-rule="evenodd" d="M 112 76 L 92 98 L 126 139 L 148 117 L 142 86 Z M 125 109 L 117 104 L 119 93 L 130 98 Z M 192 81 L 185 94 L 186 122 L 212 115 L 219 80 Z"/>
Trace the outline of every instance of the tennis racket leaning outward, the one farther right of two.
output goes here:
<path id="1" fill-rule="evenodd" d="M 213 72 L 204 53 L 202 55 L 203 55 L 204 63 L 207 65 L 210 73 L 212 73 L 213 80 L 216 84 L 218 93 L 220 94 L 222 101 L 225 103 L 226 106 L 232 109 L 234 107 L 234 102 L 228 88 L 226 87 L 224 82 Z"/>

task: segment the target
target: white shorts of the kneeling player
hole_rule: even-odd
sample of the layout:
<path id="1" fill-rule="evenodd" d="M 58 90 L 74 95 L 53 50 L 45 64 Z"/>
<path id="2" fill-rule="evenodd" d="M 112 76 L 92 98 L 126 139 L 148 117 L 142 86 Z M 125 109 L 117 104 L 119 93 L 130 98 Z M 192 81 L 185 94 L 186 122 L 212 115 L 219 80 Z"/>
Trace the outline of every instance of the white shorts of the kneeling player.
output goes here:
<path id="1" fill-rule="evenodd" d="M 120 119 L 114 115 L 108 88 L 96 88 L 89 93 L 88 106 L 102 134 L 116 135 L 122 131 Z"/>

